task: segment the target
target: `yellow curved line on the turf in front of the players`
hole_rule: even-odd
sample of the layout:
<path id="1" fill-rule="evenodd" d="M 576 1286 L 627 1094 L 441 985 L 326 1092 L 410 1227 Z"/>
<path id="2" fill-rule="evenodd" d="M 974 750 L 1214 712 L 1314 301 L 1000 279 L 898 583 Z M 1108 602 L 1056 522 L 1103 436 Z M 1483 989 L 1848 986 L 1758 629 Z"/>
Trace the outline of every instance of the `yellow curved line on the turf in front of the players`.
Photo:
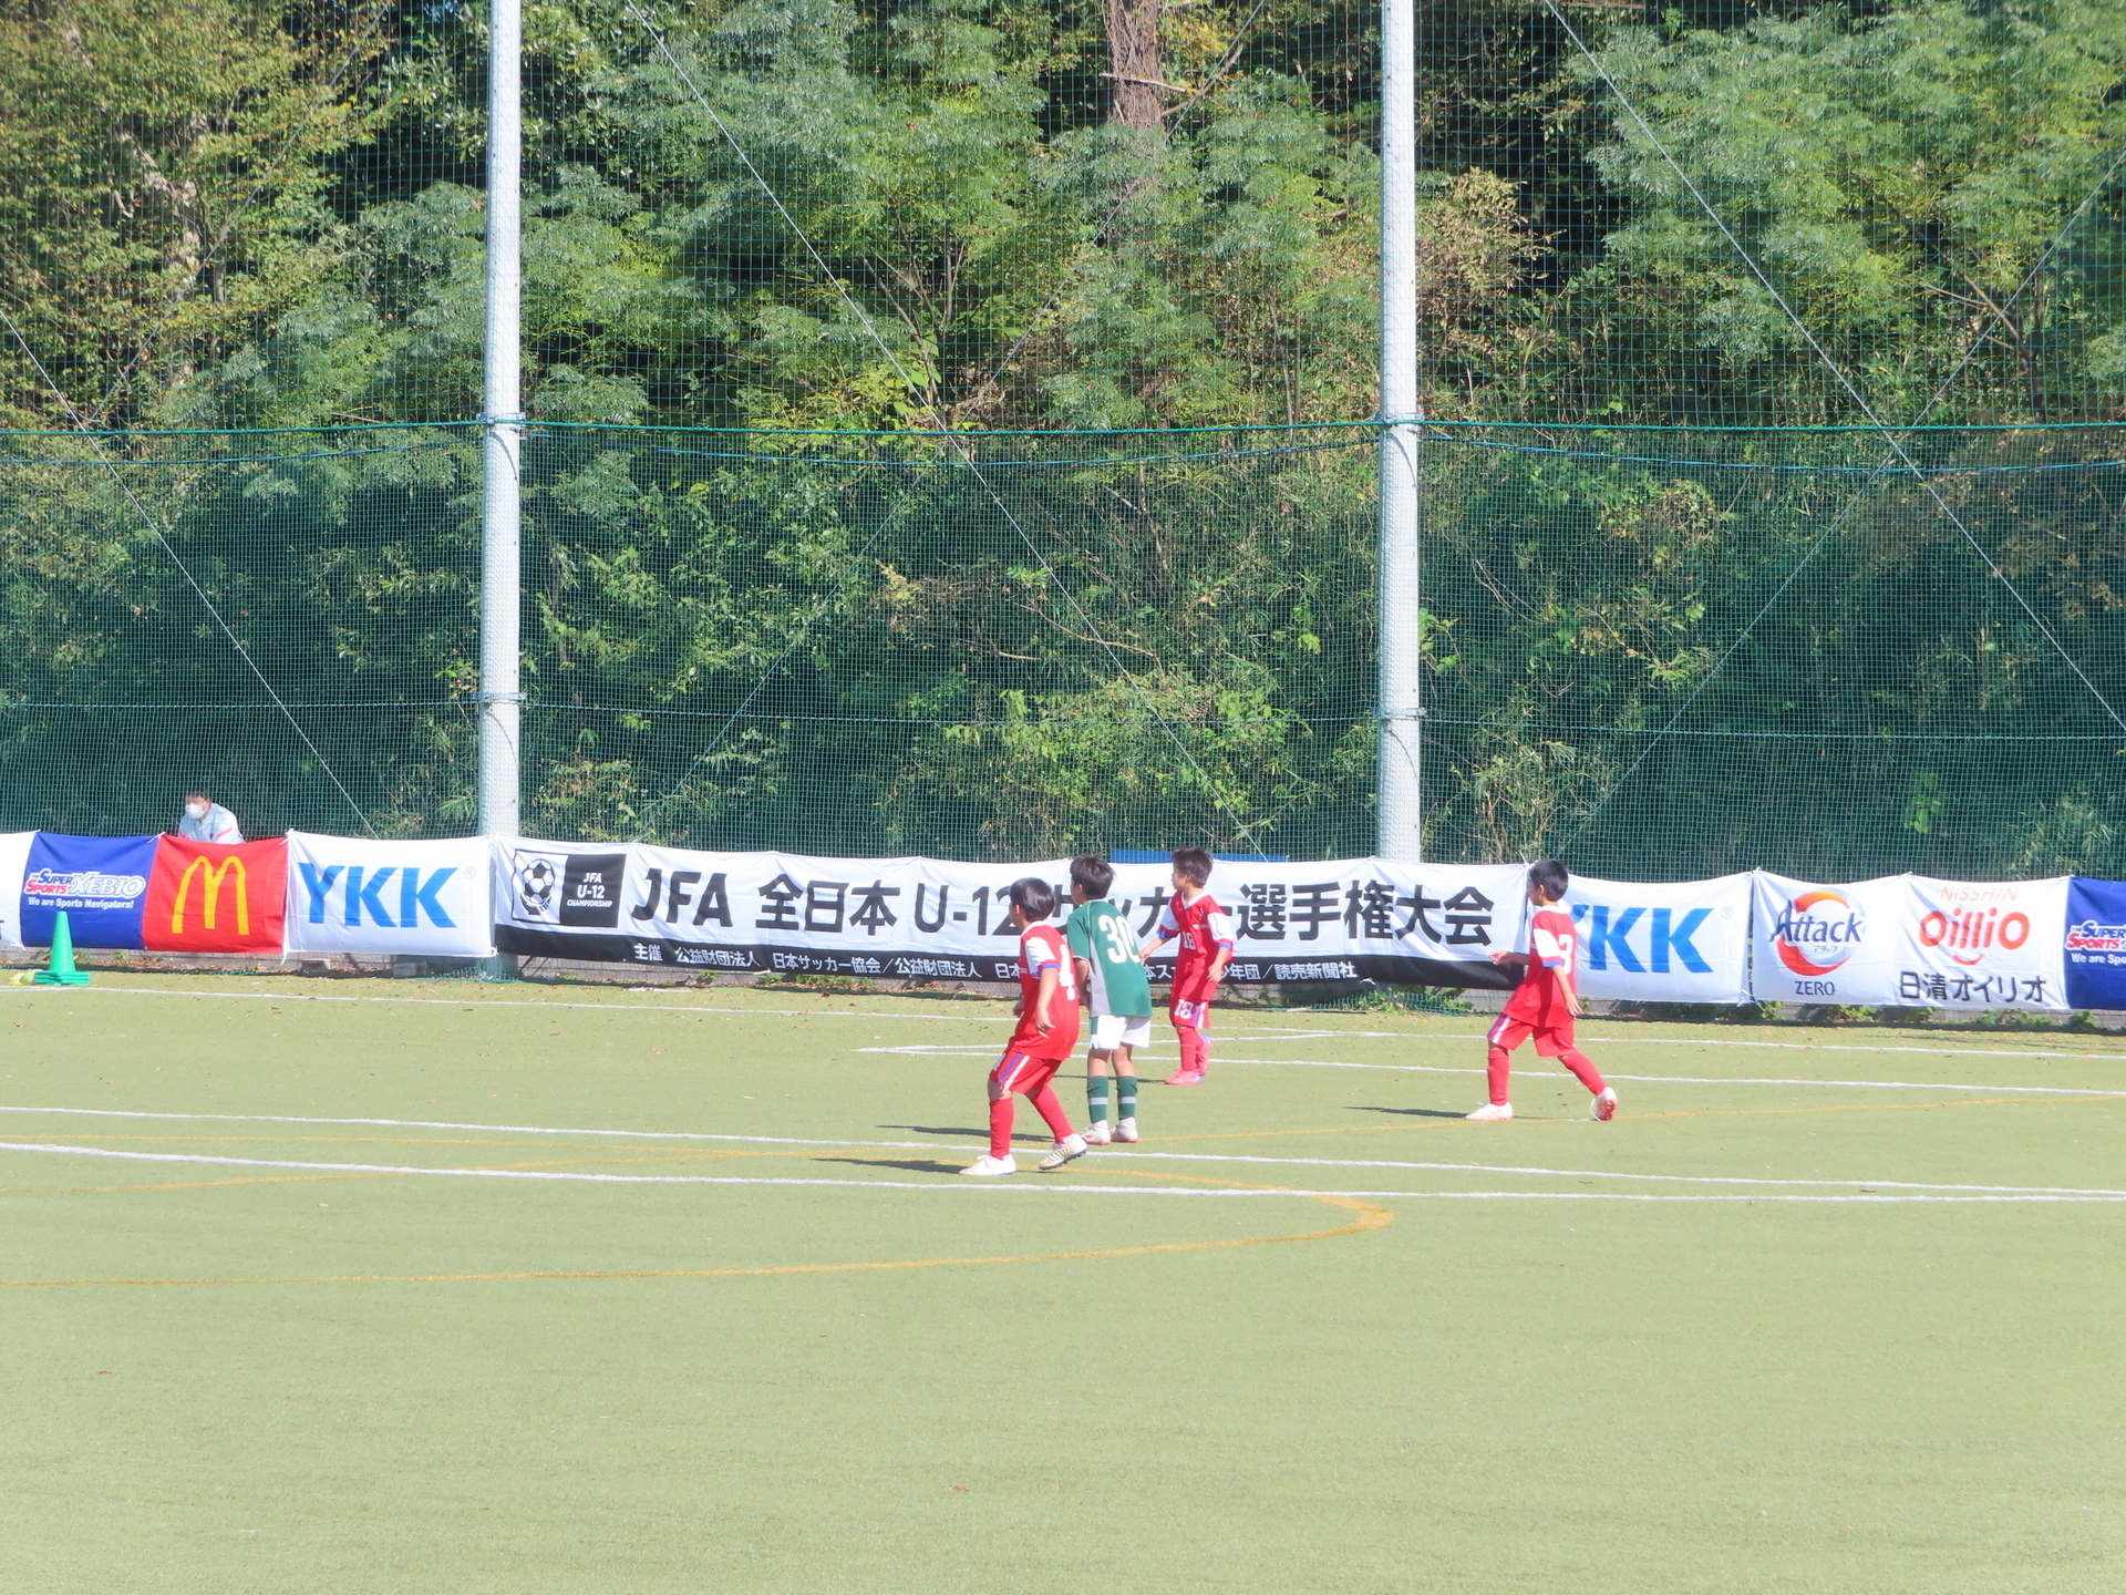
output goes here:
<path id="1" fill-rule="evenodd" d="M 810 1157 L 810 1153 L 742 1153 L 744 1157 Z M 644 1159 L 646 1161 L 646 1159 Z M 887 1163 L 895 1159 L 861 1159 Z M 532 1165 L 527 1165 L 532 1168 Z M 1244 1180 L 1220 1180 L 1199 1174 L 1159 1174 L 1152 1170 L 1103 1170 L 1103 1174 L 1116 1174 L 1120 1178 L 1137 1180 L 1186 1180 L 1188 1185 L 1216 1185 L 1235 1191 L 1282 1191 L 1280 1185 L 1248 1185 Z M 338 1178 L 338 1176 L 321 1176 Z M 404 1176 L 383 1176 L 383 1178 L 404 1178 Z M 249 1180 L 242 1180 L 249 1185 Z M 264 1185 L 266 1180 L 259 1180 Z M 215 1185 L 221 1185 L 217 1180 Z M 227 1185 L 238 1185 L 238 1180 L 227 1180 Z M 145 1187 L 136 1187 L 145 1189 Z M 1344 1197 L 1327 1193 L 1310 1193 L 1305 1202 L 1322 1202 L 1331 1208 L 1344 1208 L 1354 1214 L 1350 1223 L 1337 1225 L 1335 1229 L 1310 1229 L 1299 1236 L 1242 1236 L 1237 1240 L 1167 1240 L 1152 1246 L 1106 1246 L 1099 1250 L 1067 1250 L 1067 1253 L 1020 1253 L 1016 1257 L 906 1257 L 878 1263 L 780 1263 L 774 1267 L 634 1267 L 634 1270 L 525 1270 L 512 1274 L 308 1274 L 289 1278 L 77 1278 L 77 1280 L 0 1280 L 0 1289 L 9 1291 L 38 1291 L 38 1289 L 70 1289 L 70 1287 L 91 1287 L 91 1285 L 128 1285 L 128 1287 L 153 1287 L 153 1285 L 485 1285 L 485 1282 L 508 1282 L 508 1280 L 740 1280 L 740 1278 L 774 1278 L 780 1274 L 880 1274 L 906 1267 L 989 1267 L 999 1263 L 1065 1263 L 1084 1261 L 1097 1257 L 1152 1257 L 1159 1253 L 1212 1253 L 1212 1250 L 1235 1250 L 1239 1246 L 1286 1246 L 1299 1240 L 1337 1240 L 1339 1236 L 1363 1236 L 1373 1229 L 1386 1229 L 1395 1223 L 1395 1214 L 1363 1197 Z"/>

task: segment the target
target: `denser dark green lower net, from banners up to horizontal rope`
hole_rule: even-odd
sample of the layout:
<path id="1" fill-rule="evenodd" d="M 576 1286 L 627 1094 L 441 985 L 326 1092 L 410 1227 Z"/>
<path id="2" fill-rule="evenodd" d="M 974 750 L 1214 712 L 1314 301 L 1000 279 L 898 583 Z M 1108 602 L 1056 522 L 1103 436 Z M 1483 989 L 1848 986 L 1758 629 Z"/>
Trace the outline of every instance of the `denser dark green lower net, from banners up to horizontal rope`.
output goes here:
<path id="1" fill-rule="evenodd" d="M 474 427 L 38 438 L 0 823 L 463 829 Z M 1427 432 L 1429 851 L 2115 870 L 2126 427 Z M 534 829 L 1365 853 L 1373 427 L 527 447 Z M 227 627 L 227 629 L 223 629 Z"/>

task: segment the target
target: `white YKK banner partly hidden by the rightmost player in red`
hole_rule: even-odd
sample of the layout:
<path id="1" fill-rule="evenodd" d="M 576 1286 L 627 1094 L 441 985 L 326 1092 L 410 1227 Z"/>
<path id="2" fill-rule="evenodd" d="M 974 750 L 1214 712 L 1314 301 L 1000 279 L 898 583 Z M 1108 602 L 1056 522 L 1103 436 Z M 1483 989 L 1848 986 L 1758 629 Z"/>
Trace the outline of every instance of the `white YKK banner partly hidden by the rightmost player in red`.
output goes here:
<path id="1" fill-rule="evenodd" d="M 1750 1000 L 1750 876 L 1641 887 L 1573 876 L 1580 995 L 1633 1002 Z"/>

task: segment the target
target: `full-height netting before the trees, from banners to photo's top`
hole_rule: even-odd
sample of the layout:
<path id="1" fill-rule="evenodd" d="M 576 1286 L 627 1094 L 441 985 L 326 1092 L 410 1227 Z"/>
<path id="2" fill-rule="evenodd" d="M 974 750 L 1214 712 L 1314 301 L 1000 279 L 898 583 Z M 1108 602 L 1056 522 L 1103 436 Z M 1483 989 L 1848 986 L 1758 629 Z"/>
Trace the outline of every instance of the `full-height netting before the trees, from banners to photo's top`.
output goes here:
<path id="1" fill-rule="evenodd" d="M 1373 11 L 525 30 L 527 827 L 1371 849 Z M 0 15 L 0 823 L 472 827 L 485 38 Z M 2126 868 L 2126 13 L 1418 68 L 1429 853 Z"/>

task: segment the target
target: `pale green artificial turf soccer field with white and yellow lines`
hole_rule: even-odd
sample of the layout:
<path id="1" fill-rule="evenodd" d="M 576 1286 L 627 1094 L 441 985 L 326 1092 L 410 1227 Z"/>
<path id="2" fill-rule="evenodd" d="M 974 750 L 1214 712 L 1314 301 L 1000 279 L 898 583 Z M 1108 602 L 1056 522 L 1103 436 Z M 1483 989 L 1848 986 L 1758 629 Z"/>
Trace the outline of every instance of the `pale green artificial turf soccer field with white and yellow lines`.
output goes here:
<path id="1" fill-rule="evenodd" d="M 974 1182 L 1001 1004 L 0 1002 L 6 1589 L 2126 1586 L 2107 1038 L 1229 1012 Z"/>

